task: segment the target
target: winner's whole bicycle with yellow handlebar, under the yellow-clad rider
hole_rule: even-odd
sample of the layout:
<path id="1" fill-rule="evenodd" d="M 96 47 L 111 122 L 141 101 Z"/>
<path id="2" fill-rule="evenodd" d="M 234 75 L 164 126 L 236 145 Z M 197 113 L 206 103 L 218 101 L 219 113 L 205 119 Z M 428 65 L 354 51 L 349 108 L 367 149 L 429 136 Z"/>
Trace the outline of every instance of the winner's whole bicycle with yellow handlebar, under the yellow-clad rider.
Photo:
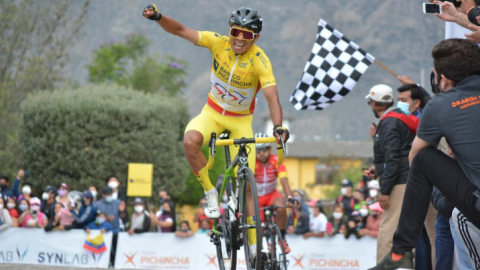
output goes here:
<path id="1" fill-rule="evenodd" d="M 247 145 L 250 143 L 274 143 L 275 137 L 267 138 L 241 138 L 228 139 L 229 132 L 223 132 L 217 141 L 216 133 L 212 132 L 210 138 L 210 151 L 208 157 L 208 168 L 211 169 L 215 160 L 215 146 L 225 146 L 225 174 L 219 176 L 217 183 L 221 183 L 218 194 L 227 192 L 228 209 L 226 209 L 219 219 L 214 220 L 211 241 L 216 245 L 218 265 L 221 270 L 236 269 L 237 250 L 244 246 L 245 263 L 248 270 L 262 267 L 262 242 L 261 242 L 261 220 L 258 204 L 257 188 L 255 177 L 252 170 L 248 167 Z M 228 146 L 237 145 L 238 154 L 233 161 L 230 159 Z M 278 147 L 279 162 L 283 160 L 285 143 L 282 141 Z M 235 178 L 235 168 L 238 166 L 237 177 Z M 254 224 L 247 224 L 247 192 L 250 190 L 253 209 Z M 219 196 L 219 204 L 220 198 Z M 251 205 L 250 205 L 251 206 Z M 248 230 L 255 230 L 257 243 L 248 242 Z M 251 260 L 250 244 L 256 244 L 256 259 Z M 230 265 L 228 265 L 230 263 Z"/>

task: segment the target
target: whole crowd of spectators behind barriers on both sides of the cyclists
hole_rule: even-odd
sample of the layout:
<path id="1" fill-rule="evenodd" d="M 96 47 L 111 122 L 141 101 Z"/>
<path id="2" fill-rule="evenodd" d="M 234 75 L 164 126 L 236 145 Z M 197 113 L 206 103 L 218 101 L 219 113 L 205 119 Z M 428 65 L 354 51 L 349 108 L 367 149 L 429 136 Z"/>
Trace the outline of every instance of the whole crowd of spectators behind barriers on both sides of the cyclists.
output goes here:
<path id="1" fill-rule="evenodd" d="M 157 231 L 189 237 L 194 233 L 210 234 L 213 226 L 212 220 L 203 211 L 203 198 L 199 201 L 193 220 L 177 222 L 175 204 L 166 190 L 159 192 L 156 209 L 153 204 L 147 205 L 142 198 L 131 199 L 129 205 L 126 192 L 116 176 L 108 177 L 103 187 L 90 186 L 83 192 L 70 191 L 67 183 L 48 185 L 43 188 L 41 196 L 32 193 L 34 187 L 23 181 L 24 178 L 25 171 L 20 170 L 10 187 L 9 178 L 0 177 L 0 232 L 8 227 L 25 227 L 43 228 L 45 231 L 125 231 L 130 235 Z M 287 233 L 303 235 L 305 239 L 336 234 L 344 234 L 347 238 L 351 234 L 357 238 L 367 234 L 375 237 L 378 231 L 376 220 L 381 213 L 378 207 L 375 208 L 378 181 L 371 180 L 369 187 L 369 190 L 357 188 L 353 192 L 353 183 L 345 179 L 341 187 L 342 195 L 335 200 L 331 213 L 324 211 L 321 201 L 306 201 L 302 190 L 293 191 L 294 199 L 298 201 L 297 214 L 295 218 L 290 215 Z M 224 201 L 226 204 L 226 198 Z M 133 209 L 130 215 L 127 206 Z M 192 231 L 190 222 L 198 225 L 196 232 Z"/>

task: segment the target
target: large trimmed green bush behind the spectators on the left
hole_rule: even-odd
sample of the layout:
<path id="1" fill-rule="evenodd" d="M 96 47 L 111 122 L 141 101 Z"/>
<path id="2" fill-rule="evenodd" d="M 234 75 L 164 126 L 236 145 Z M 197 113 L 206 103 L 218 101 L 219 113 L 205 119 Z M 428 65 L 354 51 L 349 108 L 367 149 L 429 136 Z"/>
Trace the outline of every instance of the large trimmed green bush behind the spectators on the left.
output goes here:
<path id="1" fill-rule="evenodd" d="M 182 138 L 188 108 L 180 97 L 145 94 L 117 85 L 40 92 L 21 106 L 23 168 L 35 186 L 69 183 L 83 190 L 128 163 L 153 163 L 160 186 L 179 194 L 188 173 Z M 124 181 L 124 187 L 126 183 Z"/>

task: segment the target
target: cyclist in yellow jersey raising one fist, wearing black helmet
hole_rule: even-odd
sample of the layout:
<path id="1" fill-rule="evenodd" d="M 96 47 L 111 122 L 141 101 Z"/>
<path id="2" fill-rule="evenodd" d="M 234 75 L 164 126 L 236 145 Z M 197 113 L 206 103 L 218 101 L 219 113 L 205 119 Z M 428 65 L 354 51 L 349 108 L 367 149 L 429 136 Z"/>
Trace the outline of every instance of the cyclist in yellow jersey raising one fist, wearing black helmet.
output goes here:
<path id="1" fill-rule="evenodd" d="M 229 20 L 229 36 L 222 36 L 188 28 L 161 14 L 155 5 L 147 6 L 143 16 L 156 21 L 166 32 L 206 47 L 212 53 L 207 104 L 187 125 L 183 143 L 187 161 L 205 191 L 205 215 L 218 218 L 218 193 L 210 181 L 207 160 L 200 150 L 202 145 L 208 143 L 211 132 L 219 134 L 228 129 L 231 138 L 253 137 L 255 97 L 262 89 L 275 126 L 274 135 L 279 141 L 288 139 L 288 130 L 282 128 L 282 108 L 270 60 L 265 52 L 255 45 L 260 38 L 262 18 L 252 8 L 234 10 Z M 282 138 L 278 134 L 279 130 L 286 131 Z M 230 147 L 232 156 L 235 156 L 237 151 L 236 147 Z M 254 154 L 249 155 L 248 164 L 252 171 L 255 171 Z M 247 202 L 247 208 L 251 215 L 250 213 L 254 212 L 253 203 Z M 249 216 L 247 222 L 253 223 L 254 218 Z"/>

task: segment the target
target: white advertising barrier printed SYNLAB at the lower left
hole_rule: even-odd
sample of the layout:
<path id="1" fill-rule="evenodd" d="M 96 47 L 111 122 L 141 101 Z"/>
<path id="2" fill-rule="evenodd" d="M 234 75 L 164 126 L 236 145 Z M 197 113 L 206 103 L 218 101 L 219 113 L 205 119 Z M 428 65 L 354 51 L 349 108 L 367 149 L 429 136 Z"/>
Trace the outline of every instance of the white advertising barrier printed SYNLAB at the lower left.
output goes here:
<path id="1" fill-rule="evenodd" d="M 98 231 L 92 230 L 91 237 Z M 95 254 L 83 248 L 83 230 L 45 232 L 43 229 L 9 228 L 0 233 L 0 263 L 108 268 L 112 233 L 104 234 L 107 250 Z"/>

